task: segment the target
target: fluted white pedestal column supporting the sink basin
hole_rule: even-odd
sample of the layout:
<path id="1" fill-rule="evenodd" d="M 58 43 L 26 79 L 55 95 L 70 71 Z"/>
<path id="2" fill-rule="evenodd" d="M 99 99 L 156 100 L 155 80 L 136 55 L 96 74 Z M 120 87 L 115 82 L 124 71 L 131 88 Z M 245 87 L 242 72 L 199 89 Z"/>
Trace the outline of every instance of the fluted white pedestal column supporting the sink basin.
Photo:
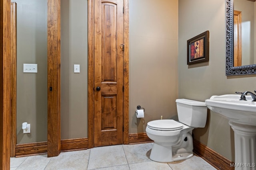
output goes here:
<path id="1" fill-rule="evenodd" d="M 229 121 L 235 137 L 235 170 L 256 169 L 256 125 Z"/>

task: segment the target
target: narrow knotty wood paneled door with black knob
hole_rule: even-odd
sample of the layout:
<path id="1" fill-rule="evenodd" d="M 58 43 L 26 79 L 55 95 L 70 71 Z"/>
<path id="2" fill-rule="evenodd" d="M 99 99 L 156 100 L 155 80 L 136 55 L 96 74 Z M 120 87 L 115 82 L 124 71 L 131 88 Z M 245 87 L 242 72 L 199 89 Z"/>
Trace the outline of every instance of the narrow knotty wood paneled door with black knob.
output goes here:
<path id="1" fill-rule="evenodd" d="M 123 0 L 94 2 L 94 146 L 123 143 Z"/>

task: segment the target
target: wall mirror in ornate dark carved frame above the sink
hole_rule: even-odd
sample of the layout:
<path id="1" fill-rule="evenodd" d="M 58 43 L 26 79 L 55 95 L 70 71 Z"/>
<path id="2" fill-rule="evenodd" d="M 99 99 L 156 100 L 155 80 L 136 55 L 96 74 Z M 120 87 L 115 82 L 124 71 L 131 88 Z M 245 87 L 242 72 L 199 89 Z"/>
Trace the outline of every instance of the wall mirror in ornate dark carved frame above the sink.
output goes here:
<path id="1" fill-rule="evenodd" d="M 250 5 L 253 13 L 251 11 L 249 15 L 246 14 L 248 7 L 245 7 L 247 10 L 242 8 L 248 4 L 247 1 L 253 4 Z M 234 3 L 237 3 L 238 8 L 234 8 Z M 226 0 L 226 76 L 256 74 L 256 23 L 254 19 L 248 19 L 248 16 L 255 16 L 255 3 L 254 0 Z M 240 16 L 247 17 L 244 22 L 240 13 Z"/>

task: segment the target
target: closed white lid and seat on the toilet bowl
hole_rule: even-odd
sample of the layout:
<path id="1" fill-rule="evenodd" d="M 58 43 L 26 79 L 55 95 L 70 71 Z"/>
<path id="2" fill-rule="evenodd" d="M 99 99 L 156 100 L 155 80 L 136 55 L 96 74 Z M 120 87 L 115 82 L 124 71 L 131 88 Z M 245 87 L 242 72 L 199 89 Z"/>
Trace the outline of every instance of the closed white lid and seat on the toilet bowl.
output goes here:
<path id="1" fill-rule="evenodd" d="M 172 119 L 153 120 L 148 122 L 148 128 L 160 131 L 176 131 L 183 128 L 183 124 Z"/>

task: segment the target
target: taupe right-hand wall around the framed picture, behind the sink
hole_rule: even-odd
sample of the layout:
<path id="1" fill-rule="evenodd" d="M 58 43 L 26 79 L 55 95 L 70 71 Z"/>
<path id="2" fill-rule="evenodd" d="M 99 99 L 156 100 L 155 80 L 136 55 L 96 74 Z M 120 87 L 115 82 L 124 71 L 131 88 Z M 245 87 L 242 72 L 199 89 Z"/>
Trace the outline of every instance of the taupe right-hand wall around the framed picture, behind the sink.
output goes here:
<path id="1" fill-rule="evenodd" d="M 212 95 L 255 90 L 256 75 L 225 75 L 225 1 L 179 0 L 178 11 L 178 98 L 204 101 Z M 210 31 L 210 61 L 187 65 L 187 40 L 206 30 Z M 234 132 L 226 118 L 208 110 L 206 127 L 193 132 L 196 140 L 234 161 Z"/>

